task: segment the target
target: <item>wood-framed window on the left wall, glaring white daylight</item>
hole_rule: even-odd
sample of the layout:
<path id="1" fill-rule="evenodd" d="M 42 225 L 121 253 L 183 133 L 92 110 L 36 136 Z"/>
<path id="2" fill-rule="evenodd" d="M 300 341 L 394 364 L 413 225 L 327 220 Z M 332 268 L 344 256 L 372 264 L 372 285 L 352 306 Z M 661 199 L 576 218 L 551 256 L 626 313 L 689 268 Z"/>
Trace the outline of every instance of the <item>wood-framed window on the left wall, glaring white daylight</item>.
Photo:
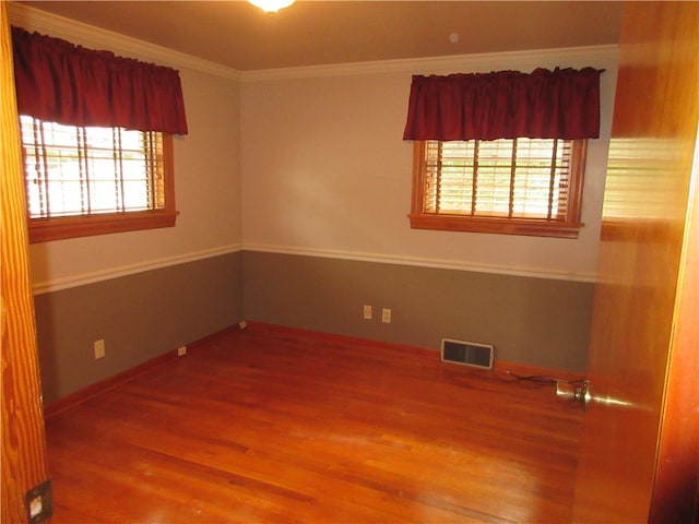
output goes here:
<path id="1" fill-rule="evenodd" d="M 170 134 L 20 122 L 29 241 L 175 225 Z"/>

